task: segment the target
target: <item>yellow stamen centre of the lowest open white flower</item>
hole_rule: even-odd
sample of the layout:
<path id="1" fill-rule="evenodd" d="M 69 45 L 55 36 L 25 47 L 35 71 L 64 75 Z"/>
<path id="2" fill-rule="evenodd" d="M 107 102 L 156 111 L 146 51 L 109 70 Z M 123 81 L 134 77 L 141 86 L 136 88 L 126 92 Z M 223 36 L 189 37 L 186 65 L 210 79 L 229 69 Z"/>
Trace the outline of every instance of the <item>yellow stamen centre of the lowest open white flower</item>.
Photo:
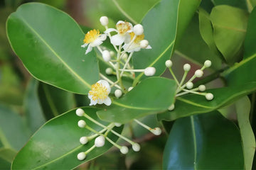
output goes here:
<path id="1" fill-rule="evenodd" d="M 106 99 L 109 93 L 107 92 L 107 87 L 102 86 L 100 83 L 96 83 L 92 85 L 92 90 L 89 91 L 89 94 L 92 95 L 92 100 L 96 101 L 98 99 Z"/>

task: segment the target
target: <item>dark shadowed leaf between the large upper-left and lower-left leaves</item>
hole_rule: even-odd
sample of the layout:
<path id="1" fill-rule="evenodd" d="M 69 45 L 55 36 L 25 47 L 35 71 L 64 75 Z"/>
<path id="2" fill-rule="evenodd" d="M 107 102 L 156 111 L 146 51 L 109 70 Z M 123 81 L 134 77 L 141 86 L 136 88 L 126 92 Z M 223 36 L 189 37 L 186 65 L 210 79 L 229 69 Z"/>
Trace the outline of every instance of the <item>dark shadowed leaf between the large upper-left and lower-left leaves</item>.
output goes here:
<path id="1" fill-rule="evenodd" d="M 47 120 L 75 108 L 74 95 L 55 86 L 40 82 L 38 96 Z"/>

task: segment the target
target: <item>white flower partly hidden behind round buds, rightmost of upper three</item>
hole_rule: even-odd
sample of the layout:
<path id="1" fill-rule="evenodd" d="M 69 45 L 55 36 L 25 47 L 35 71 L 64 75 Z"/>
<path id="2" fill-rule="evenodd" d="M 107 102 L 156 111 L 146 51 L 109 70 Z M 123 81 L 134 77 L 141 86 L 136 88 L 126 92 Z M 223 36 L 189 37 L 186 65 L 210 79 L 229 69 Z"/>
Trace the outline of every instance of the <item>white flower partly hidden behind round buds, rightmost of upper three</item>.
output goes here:
<path id="1" fill-rule="evenodd" d="M 132 33 L 129 33 L 130 35 L 130 41 L 134 38 L 135 34 L 132 32 Z M 134 42 L 132 42 L 132 44 L 130 44 L 129 42 L 128 43 L 125 43 L 123 48 L 125 51 L 127 52 L 137 52 L 139 50 L 141 50 L 141 45 L 140 45 L 140 42 L 144 40 L 144 33 L 142 33 L 142 35 L 137 35 L 137 37 L 135 38 Z M 151 49 L 152 47 L 150 45 L 147 45 L 146 49 Z"/>

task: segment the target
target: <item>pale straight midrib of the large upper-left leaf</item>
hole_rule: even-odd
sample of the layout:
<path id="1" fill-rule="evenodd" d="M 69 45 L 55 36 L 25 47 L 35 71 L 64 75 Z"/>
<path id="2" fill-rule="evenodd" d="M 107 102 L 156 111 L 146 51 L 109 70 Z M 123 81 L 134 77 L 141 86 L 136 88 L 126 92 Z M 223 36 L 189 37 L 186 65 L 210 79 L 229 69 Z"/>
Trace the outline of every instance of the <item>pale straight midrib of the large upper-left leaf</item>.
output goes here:
<path id="1" fill-rule="evenodd" d="M 61 59 L 61 57 L 57 54 L 57 52 L 55 52 L 55 50 L 53 50 L 53 48 L 50 47 L 50 45 L 48 45 L 48 43 L 46 42 L 46 40 L 44 40 L 44 39 L 41 37 L 41 35 L 39 35 L 39 34 L 36 32 L 36 30 L 34 30 L 34 29 L 29 25 L 28 22 L 26 22 L 26 19 L 25 19 L 25 18 L 23 18 L 23 17 L 17 17 L 17 18 L 20 18 L 21 21 L 23 21 L 23 23 L 25 23 L 26 26 L 27 26 L 29 29 L 32 30 L 32 32 L 46 45 L 46 47 L 48 47 L 48 49 L 49 49 L 51 52 L 53 52 L 53 55 L 55 55 L 55 57 L 57 57 L 58 60 L 60 60 L 60 62 L 62 62 L 62 63 L 64 64 L 64 66 L 65 66 L 73 75 L 75 75 L 75 77 L 76 77 L 78 80 L 80 80 L 80 81 L 82 82 L 82 84 L 85 84 L 85 86 L 87 86 L 89 89 L 91 88 L 90 84 L 88 84 L 84 79 L 82 79 L 82 77 L 80 77 L 80 76 L 77 74 L 77 72 L 75 72 L 72 68 L 70 68 L 70 67 L 68 66 L 68 64 L 65 63 L 65 62 Z"/>

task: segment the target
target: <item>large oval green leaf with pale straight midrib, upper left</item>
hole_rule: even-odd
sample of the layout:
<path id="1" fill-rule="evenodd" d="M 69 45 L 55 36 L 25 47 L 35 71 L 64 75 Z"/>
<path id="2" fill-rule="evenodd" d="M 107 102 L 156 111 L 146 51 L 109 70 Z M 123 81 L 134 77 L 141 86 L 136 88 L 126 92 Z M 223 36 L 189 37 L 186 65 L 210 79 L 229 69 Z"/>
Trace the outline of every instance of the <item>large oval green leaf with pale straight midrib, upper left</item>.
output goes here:
<path id="1" fill-rule="evenodd" d="M 11 47 L 33 77 L 78 94 L 98 81 L 95 53 L 85 55 L 85 35 L 68 14 L 46 4 L 23 4 L 6 27 Z"/>

